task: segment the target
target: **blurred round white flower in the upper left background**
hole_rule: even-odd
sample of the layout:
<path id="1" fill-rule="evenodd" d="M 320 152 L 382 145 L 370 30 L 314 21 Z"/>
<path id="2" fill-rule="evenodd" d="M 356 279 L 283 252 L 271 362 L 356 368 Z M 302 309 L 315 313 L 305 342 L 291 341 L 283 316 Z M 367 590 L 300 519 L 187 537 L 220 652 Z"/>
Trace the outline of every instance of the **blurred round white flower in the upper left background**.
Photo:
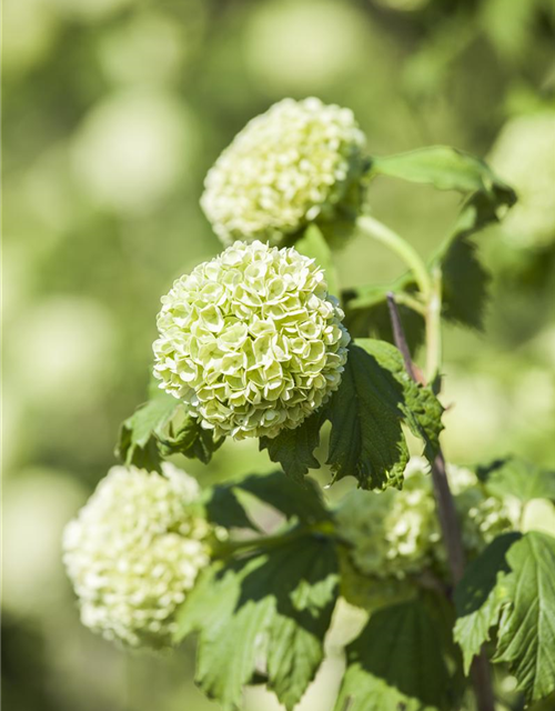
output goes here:
<path id="1" fill-rule="evenodd" d="M 155 209 L 189 170 L 192 120 L 173 96 L 117 93 L 87 116 L 74 137 L 73 163 L 99 206 L 130 214 Z"/>

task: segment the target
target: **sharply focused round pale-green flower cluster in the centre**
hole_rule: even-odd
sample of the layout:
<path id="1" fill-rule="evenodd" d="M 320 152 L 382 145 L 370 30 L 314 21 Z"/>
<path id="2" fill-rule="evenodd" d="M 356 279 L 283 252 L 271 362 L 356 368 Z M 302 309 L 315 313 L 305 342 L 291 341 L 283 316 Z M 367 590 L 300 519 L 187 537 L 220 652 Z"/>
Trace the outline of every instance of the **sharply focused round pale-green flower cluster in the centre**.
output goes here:
<path id="1" fill-rule="evenodd" d="M 343 311 L 322 269 L 293 248 L 235 242 L 162 304 L 154 375 L 216 437 L 294 429 L 340 384 Z"/>

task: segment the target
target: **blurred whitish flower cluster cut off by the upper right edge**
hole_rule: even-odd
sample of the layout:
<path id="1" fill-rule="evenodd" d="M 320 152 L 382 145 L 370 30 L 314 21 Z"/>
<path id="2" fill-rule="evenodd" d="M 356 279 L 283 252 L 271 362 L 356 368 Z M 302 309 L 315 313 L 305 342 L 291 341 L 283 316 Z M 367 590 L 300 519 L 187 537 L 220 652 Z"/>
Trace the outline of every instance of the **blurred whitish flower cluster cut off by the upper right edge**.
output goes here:
<path id="1" fill-rule="evenodd" d="M 508 121 L 493 148 L 491 162 L 518 197 L 518 202 L 503 220 L 507 238 L 523 248 L 553 244 L 555 111 Z"/>

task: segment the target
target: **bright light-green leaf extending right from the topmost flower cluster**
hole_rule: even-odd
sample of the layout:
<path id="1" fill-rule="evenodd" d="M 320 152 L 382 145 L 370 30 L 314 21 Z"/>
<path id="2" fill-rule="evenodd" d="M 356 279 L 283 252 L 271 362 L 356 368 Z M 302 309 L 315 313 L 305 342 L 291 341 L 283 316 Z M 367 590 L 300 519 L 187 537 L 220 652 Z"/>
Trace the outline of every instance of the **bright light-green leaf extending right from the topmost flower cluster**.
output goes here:
<path id="1" fill-rule="evenodd" d="M 496 189 L 512 193 L 484 161 L 448 146 L 373 158 L 371 173 L 428 183 L 438 190 L 491 193 Z"/>

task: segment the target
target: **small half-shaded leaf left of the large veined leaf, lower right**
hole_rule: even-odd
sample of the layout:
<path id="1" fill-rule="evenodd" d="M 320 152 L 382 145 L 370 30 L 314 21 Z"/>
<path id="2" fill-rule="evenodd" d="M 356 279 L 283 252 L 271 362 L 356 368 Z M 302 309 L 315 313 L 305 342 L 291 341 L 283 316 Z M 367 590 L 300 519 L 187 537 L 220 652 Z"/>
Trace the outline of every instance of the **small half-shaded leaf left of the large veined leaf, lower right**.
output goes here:
<path id="1" fill-rule="evenodd" d="M 455 589 L 454 638 L 463 650 L 466 674 L 482 644 L 490 640 L 491 628 L 498 621 L 504 592 L 497 583 L 509 570 L 506 554 L 519 538 L 521 533 L 505 533 L 492 541 L 466 568 Z"/>

